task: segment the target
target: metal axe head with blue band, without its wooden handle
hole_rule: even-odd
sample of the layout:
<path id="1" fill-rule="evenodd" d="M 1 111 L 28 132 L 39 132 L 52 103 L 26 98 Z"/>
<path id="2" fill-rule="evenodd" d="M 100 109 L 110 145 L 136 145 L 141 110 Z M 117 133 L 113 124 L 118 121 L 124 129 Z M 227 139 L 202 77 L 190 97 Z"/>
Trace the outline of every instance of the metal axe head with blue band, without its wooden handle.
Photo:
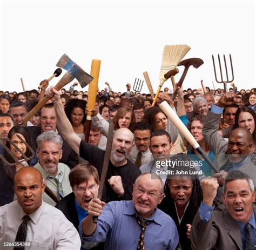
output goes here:
<path id="1" fill-rule="evenodd" d="M 76 63 L 74 63 L 66 54 L 60 57 L 57 67 L 61 67 L 62 69 L 68 71 L 73 77 L 75 77 L 81 87 L 85 87 L 88 85 L 93 77 L 83 71 Z"/>

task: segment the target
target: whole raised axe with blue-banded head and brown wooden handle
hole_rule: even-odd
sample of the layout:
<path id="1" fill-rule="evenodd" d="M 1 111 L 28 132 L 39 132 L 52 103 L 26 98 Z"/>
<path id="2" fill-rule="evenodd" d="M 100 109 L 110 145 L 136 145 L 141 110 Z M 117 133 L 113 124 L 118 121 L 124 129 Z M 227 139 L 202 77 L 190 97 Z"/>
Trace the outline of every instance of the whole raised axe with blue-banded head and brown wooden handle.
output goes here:
<path id="1" fill-rule="evenodd" d="M 74 63 L 66 54 L 60 57 L 58 63 L 56 64 L 57 67 L 61 67 L 62 69 L 66 70 L 67 72 L 64 74 L 62 78 L 60 78 L 59 82 L 54 86 L 56 90 L 62 89 L 65 85 L 70 83 L 73 79 L 77 79 L 81 87 L 85 87 L 88 85 L 93 77 L 83 71 L 76 63 Z M 41 102 L 39 102 L 24 118 L 24 124 L 26 124 L 32 116 L 34 116 L 38 110 L 40 110 L 45 103 L 50 100 L 49 97 L 44 97 Z"/>

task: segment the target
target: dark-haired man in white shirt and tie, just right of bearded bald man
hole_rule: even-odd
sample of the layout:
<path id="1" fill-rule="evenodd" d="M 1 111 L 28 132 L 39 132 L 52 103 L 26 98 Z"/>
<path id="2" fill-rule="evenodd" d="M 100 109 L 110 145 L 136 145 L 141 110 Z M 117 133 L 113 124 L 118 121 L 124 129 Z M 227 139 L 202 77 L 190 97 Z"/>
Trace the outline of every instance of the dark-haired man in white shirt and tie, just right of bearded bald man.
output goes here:
<path id="1" fill-rule="evenodd" d="M 149 163 L 153 160 L 152 153 L 150 152 L 150 134 L 152 133 L 152 126 L 148 123 L 140 121 L 133 126 L 134 143 L 128 159 L 132 161 L 137 167 Z"/>

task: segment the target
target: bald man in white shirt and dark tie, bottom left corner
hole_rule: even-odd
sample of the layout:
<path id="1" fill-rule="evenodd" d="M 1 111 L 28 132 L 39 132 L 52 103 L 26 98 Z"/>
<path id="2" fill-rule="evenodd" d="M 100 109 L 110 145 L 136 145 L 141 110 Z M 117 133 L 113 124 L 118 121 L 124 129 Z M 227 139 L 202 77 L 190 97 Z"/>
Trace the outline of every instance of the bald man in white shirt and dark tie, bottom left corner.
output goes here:
<path id="1" fill-rule="evenodd" d="M 73 224 L 57 208 L 42 201 L 44 188 L 42 174 L 36 168 L 23 167 L 15 174 L 17 200 L 0 207 L 0 244 L 22 241 L 37 250 L 80 249 Z"/>

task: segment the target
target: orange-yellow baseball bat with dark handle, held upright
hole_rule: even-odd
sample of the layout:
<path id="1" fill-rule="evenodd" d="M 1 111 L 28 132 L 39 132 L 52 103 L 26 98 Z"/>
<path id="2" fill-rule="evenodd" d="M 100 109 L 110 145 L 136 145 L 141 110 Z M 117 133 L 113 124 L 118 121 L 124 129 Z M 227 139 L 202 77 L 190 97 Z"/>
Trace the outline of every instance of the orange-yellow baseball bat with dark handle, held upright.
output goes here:
<path id="1" fill-rule="evenodd" d="M 85 138 L 84 141 L 86 143 L 89 141 L 89 134 L 91 129 L 92 123 L 92 112 L 90 110 L 95 108 L 95 101 L 96 101 L 96 94 L 98 89 L 98 81 L 99 81 L 99 69 L 100 69 L 100 60 L 93 59 L 91 65 L 91 75 L 93 80 L 89 85 L 89 97 L 88 97 L 88 110 L 89 114 L 86 116 L 86 123 L 85 123 Z"/>

